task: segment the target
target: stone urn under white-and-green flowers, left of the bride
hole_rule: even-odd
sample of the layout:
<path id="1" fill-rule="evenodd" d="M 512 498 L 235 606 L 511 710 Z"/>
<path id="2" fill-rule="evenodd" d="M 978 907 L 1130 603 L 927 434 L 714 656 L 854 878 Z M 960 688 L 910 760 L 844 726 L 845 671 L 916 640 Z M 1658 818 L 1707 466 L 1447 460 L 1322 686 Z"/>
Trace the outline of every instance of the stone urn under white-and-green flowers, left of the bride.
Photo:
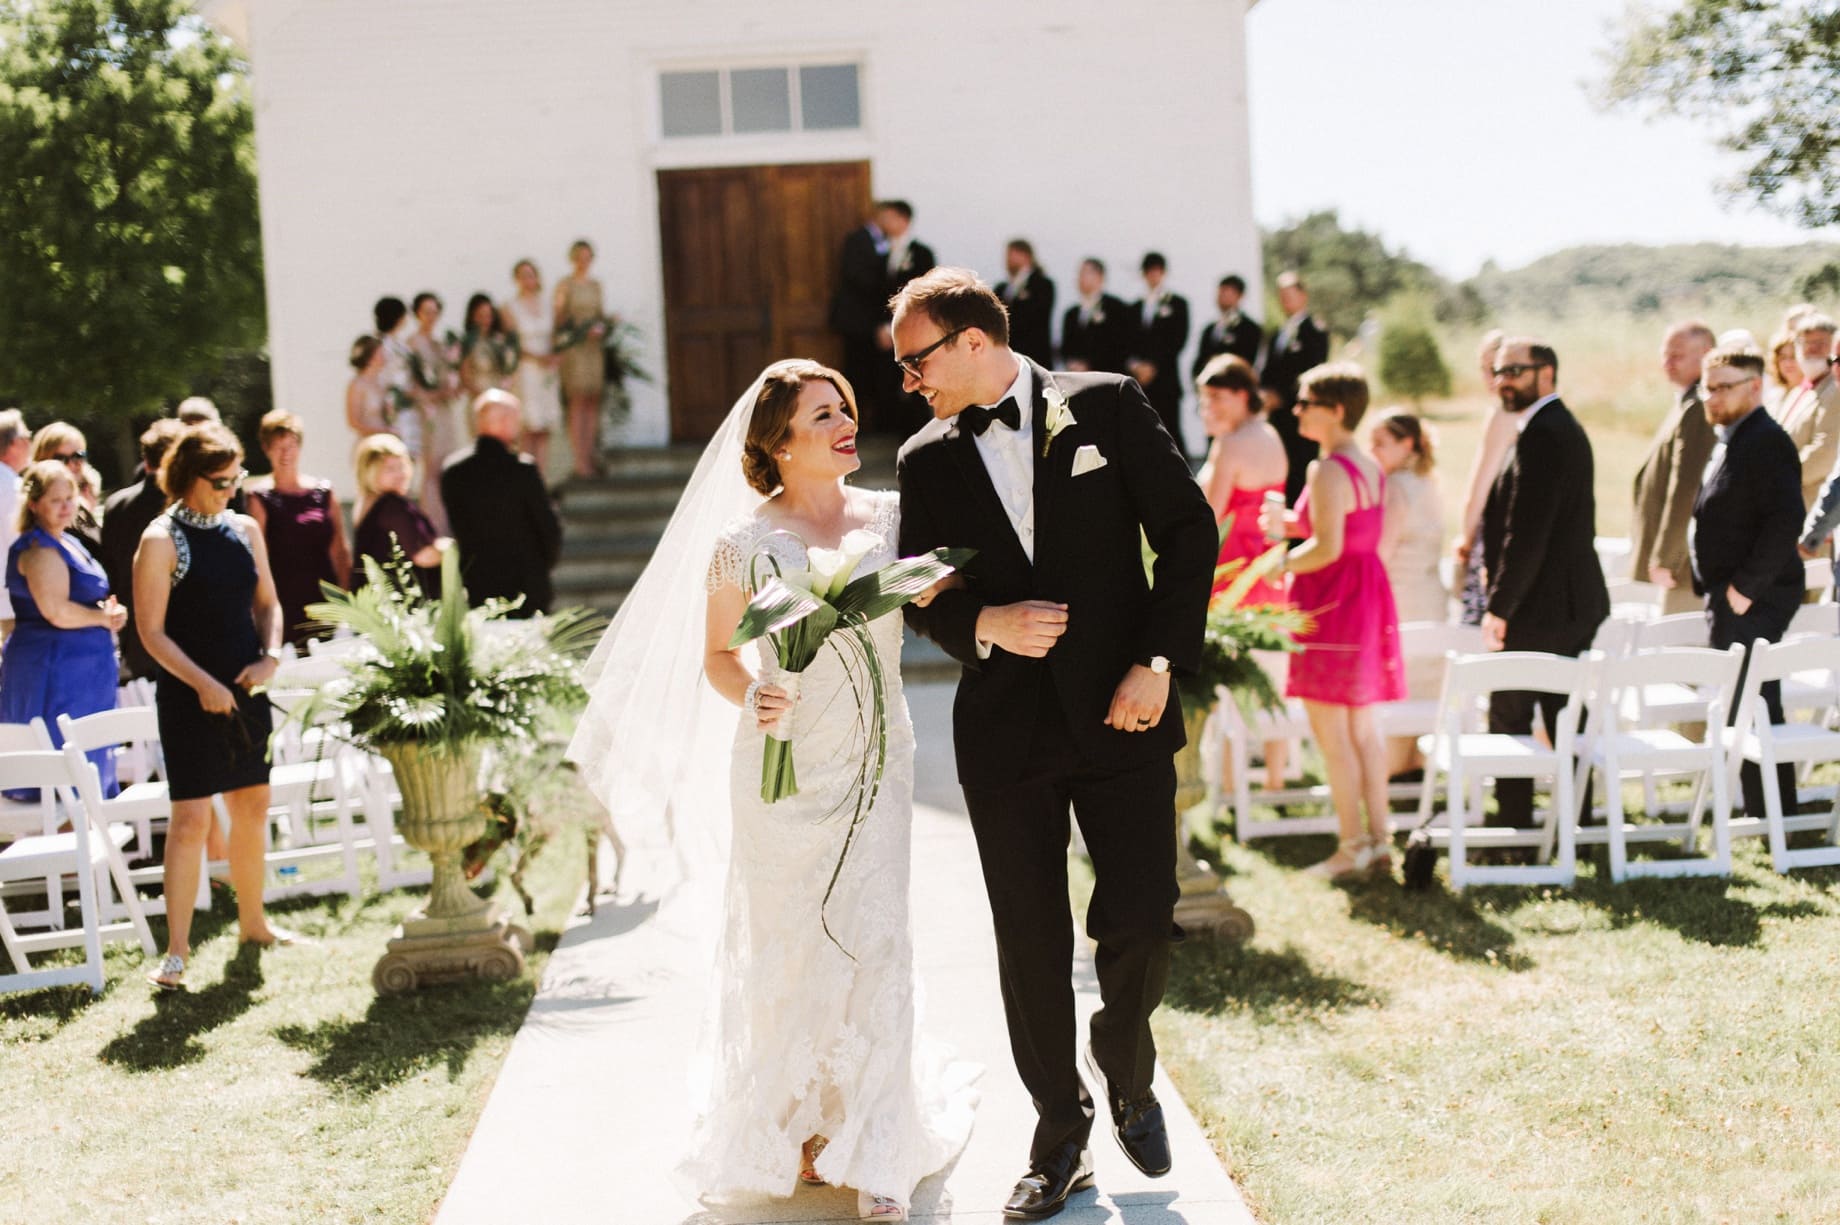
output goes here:
<path id="1" fill-rule="evenodd" d="M 396 929 L 370 980 L 379 995 L 434 982 L 524 973 L 530 934 L 467 888 L 460 853 L 486 831 L 478 745 L 381 745 L 403 793 L 397 830 L 434 861 L 427 903 Z"/>

